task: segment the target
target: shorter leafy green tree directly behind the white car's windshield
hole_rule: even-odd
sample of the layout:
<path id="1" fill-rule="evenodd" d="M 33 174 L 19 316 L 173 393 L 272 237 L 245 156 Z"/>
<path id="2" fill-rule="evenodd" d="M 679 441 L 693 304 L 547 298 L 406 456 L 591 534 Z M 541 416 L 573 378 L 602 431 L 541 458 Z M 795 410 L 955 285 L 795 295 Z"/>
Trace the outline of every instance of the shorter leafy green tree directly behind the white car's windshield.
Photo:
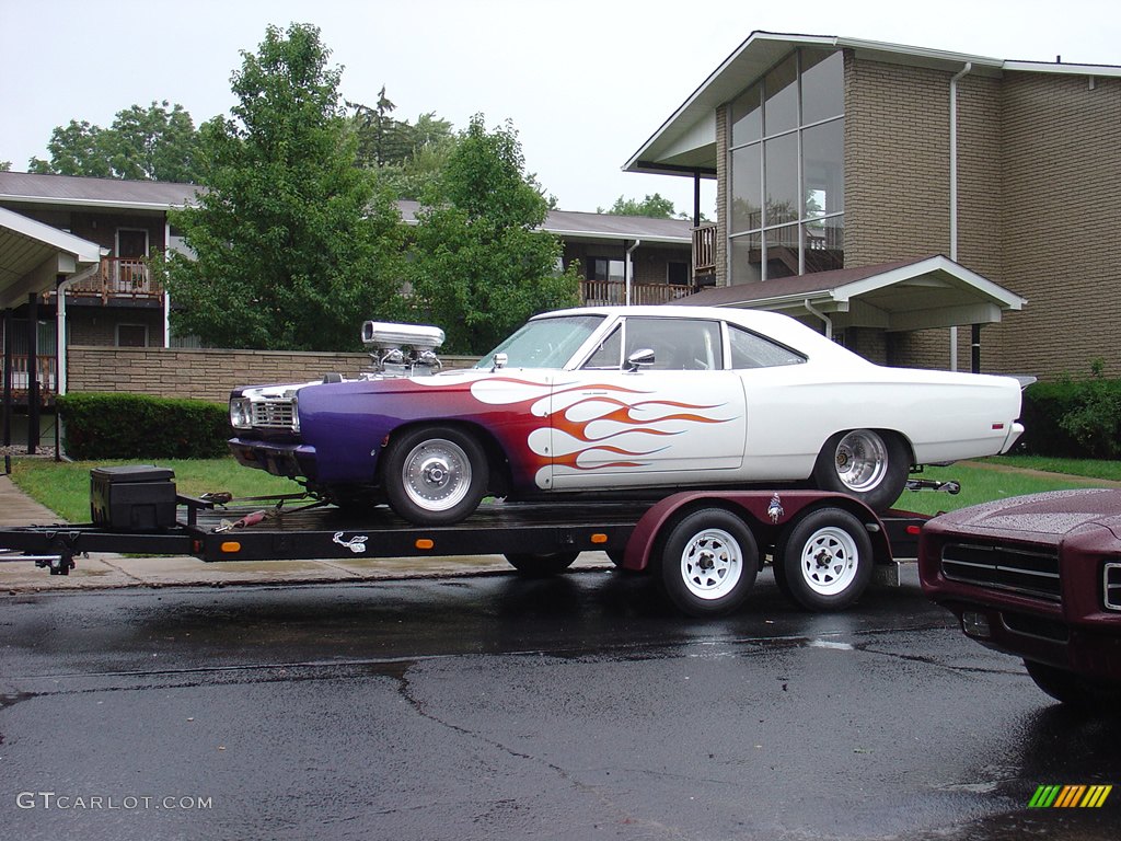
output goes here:
<path id="1" fill-rule="evenodd" d="M 421 204 L 409 303 L 444 329 L 448 351 L 483 353 L 529 316 L 577 303 L 575 271 L 557 271 L 560 241 L 537 230 L 548 205 L 509 122 L 488 132 L 475 114 Z"/>

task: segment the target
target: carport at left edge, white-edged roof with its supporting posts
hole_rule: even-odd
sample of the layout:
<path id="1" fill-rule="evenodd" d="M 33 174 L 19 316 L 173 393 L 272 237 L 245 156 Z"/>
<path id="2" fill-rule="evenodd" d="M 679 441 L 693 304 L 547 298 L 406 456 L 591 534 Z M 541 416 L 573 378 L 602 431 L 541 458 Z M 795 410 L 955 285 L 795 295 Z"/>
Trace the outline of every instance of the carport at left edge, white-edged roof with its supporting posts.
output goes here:
<path id="1" fill-rule="evenodd" d="M 0 309 L 3 311 L 3 444 L 11 444 L 16 375 L 27 395 L 27 447 L 39 444 L 40 389 L 38 353 L 39 303 L 68 279 L 96 269 L 108 253 L 101 246 L 0 207 Z M 56 392 L 65 391 L 65 304 L 59 294 L 56 320 Z M 26 317 L 26 364 L 15 371 L 16 311 Z M 47 383 L 49 387 L 49 383 Z"/>

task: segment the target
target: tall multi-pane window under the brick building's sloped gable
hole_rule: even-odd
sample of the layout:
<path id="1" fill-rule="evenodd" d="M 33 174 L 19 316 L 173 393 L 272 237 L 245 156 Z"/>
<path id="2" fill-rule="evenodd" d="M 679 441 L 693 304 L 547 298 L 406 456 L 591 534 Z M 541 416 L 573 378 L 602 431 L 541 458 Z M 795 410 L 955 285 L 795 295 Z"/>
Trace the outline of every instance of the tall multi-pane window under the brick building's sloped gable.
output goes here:
<path id="1" fill-rule="evenodd" d="M 733 284 L 844 266 L 844 58 L 799 49 L 730 105 Z"/>

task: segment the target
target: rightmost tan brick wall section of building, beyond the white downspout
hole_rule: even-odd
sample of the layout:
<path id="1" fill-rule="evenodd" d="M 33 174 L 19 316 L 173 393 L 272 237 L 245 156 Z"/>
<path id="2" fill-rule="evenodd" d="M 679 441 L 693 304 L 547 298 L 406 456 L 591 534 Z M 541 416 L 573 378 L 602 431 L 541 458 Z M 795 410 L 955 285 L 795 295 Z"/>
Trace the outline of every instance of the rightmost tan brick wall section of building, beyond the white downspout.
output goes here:
<path id="1" fill-rule="evenodd" d="M 1028 305 L 984 352 L 1053 379 L 1103 357 L 1121 377 L 1121 80 L 1007 73 L 1002 117 L 1002 283 Z"/>

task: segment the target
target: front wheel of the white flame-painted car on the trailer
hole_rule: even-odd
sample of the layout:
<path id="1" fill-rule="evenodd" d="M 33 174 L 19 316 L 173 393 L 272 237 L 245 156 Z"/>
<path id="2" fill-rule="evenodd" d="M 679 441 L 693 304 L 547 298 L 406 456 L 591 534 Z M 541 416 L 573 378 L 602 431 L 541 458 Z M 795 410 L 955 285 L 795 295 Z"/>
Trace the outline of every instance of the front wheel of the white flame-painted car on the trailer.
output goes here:
<path id="1" fill-rule="evenodd" d="M 487 455 L 461 429 L 423 426 L 390 441 L 382 481 L 389 505 L 410 523 L 458 523 L 487 492 Z"/>

